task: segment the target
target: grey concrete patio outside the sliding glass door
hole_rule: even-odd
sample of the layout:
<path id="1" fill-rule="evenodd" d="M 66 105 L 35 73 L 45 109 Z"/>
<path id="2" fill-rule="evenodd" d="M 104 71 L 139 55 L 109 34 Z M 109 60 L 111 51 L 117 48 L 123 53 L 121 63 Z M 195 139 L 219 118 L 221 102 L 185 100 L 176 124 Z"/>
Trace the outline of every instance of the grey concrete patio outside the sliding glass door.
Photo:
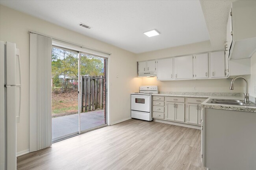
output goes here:
<path id="1" fill-rule="evenodd" d="M 81 131 L 105 124 L 104 110 L 81 113 Z M 78 132 L 78 114 L 52 118 L 52 139 Z"/>

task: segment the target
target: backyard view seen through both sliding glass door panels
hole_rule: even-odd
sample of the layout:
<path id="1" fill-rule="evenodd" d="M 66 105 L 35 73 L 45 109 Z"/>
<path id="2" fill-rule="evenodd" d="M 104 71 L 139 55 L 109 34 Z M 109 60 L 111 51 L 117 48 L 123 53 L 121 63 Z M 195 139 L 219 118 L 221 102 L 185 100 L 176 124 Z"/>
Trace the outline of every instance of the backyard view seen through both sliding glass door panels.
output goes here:
<path id="1" fill-rule="evenodd" d="M 52 139 L 105 124 L 104 58 L 52 48 Z M 78 90 L 78 83 L 81 88 Z M 80 91 L 80 104 L 78 104 Z M 81 124 L 78 122 L 78 107 Z"/>

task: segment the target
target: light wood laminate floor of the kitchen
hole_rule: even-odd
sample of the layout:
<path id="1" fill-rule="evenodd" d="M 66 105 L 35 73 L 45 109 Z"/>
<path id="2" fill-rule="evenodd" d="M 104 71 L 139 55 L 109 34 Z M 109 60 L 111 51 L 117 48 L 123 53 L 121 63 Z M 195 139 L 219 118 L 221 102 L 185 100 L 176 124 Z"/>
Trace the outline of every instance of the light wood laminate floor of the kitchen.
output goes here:
<path id="1" fill-rule="evenodd" d="M 200 130 L 130 119 L 17 158 L 18 170 L 206 170 Z"/>

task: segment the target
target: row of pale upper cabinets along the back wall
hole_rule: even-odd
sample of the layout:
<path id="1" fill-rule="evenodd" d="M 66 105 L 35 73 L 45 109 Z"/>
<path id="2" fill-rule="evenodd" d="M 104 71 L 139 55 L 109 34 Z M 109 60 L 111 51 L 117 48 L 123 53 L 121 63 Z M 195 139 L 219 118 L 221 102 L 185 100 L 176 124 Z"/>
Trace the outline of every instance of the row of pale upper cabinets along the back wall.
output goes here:
<path id="1" fill-rule="evenodd" d="M 226 51 L 161 58 L 138 62 L 138 77 L 157 80 L 226 79 L 250 75 L 250 58 L 228 60 Z"/>

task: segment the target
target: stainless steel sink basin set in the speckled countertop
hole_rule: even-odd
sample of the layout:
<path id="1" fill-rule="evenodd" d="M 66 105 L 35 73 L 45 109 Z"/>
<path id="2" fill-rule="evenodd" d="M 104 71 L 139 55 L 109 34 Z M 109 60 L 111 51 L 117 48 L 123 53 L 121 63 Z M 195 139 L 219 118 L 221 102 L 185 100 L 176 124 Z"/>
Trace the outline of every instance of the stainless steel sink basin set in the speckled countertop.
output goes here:
<path id="1" fill-rule="evenodd" d="M 240 106 L 255 106 L 255 103 L 250 102 L 246 104 L 243 100 L 234 100 L 234 99 L 210 99 L 207 103 L 213 104 L 228 104 L 228 105 L 240 105 Z"/>

